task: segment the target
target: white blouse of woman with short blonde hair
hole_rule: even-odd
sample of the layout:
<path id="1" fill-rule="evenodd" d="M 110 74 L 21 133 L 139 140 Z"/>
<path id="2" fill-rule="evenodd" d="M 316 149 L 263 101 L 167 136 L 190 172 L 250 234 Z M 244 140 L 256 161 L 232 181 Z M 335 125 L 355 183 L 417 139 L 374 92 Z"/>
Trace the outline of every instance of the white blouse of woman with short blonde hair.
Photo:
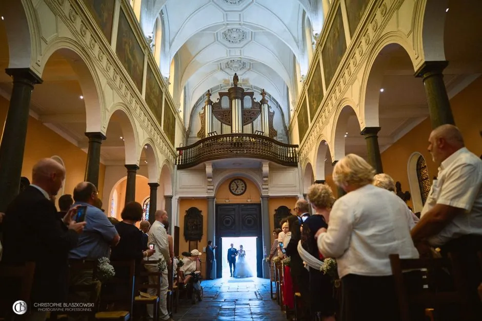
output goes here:
<path id="1" fill-rule="evenodd" d="M 365 185 L 339 198 L 326 233 L 317 240 L 327 258 L 335 258 L 338 275 L 391 275 L 390 254 L 418 258 L 410 237 L 407 205 L 392 192 Z"/>

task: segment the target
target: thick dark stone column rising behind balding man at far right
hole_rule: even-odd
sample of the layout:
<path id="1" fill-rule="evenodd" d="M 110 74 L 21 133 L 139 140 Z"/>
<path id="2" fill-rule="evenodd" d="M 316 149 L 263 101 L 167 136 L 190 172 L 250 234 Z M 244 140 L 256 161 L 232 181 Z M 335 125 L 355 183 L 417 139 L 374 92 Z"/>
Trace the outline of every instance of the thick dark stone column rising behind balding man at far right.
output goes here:
<path id="1" fill-rule="evenodd" d="M 455 124 L 442 73 L 448 64 L 448 61 L 425 61 L 415 73 L 424 81 L 433 129 L 444 124 Z"/>

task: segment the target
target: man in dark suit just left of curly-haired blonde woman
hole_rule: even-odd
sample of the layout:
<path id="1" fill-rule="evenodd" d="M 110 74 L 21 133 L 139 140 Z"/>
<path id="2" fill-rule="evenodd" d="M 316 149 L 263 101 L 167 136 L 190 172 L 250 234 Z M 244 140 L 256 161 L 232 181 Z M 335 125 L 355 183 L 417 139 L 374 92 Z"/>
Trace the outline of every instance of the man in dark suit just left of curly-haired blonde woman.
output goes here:
<path id="1" fill-rule="evenodd" d="M 309 203 L 304 199 L 299 199 L 295 204 L 296 216 L 288 219 L 290 226 L 291 239 L 286 246 L 286 254 L 290 257 L 290 272 L 293 284 L 298 288 L 301 294 L 302 309 L 300 311 L 300 320 L 308 320 L 310 317 L 310 297 L 308 291 L 309 272 L 305 269 L 303 260 L 298 253 L 298 242 L 301 239 L 300 227 L 303 225 L 310 213 Z"/>

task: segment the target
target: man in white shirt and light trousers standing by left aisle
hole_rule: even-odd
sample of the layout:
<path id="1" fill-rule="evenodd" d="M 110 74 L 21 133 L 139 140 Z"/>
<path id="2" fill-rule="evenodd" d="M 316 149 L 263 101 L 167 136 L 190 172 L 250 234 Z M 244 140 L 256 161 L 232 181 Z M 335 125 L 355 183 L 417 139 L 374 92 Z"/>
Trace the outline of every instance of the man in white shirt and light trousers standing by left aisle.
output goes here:
<path id="1" fill-rule="evenodd" d="M 164 224 L 168 222 L 167 212 L 159 209 L 155 212 L 155 221 L 152 223 L 149 230 L 149 244 L 154 244 L 155 252 L 149 258 L 149 260 L 164 260 L 167 264 L 171 264 L 171 258 L 169 256 L 169 244 L 167 241 L 167 232 Z M 146 265 L 146 268 L 150 272 L 157 272 L 157 264 Z M 155 276 L 149 276 L 149 283 L 156 284 L 157 278 Z M 167 311 L 167 269 L 163 271 L 162 280 L 160 282 L 160 294 L 159 294 L 159 318 L 161 320 L 172 320 Z M 150 295 L 156 295 L 156 289 L 148 289 Z M 153 317 L 152 305 L 147 306 L 147 313 L 150 318 Z"/>

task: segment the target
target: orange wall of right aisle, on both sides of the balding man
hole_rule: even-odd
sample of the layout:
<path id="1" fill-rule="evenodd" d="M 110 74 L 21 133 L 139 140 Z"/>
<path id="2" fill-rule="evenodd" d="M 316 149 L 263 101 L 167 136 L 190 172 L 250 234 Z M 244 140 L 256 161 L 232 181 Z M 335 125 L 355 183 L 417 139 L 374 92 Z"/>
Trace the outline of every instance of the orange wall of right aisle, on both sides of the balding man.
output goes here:
<path id="1" fill-rule="evenodd" d="M 462 132 L 467 148 L 477 156 L 482 154 L 480 92 L 482 92 L 482 77 L 450 100 L 455 124 Z M 403 191 L 410 190 L 407 165 L 410 155 L 414 152 L 425 157 L 430 178 L 437 175 L 437 165 L 427 151 L 431 131 L 430 119 L 427 118 L 381 154 L 384 172 L 392 176 L 395 181 L 399 181 Z M 413 207 L 411 201 L 408 204 Z"/>

